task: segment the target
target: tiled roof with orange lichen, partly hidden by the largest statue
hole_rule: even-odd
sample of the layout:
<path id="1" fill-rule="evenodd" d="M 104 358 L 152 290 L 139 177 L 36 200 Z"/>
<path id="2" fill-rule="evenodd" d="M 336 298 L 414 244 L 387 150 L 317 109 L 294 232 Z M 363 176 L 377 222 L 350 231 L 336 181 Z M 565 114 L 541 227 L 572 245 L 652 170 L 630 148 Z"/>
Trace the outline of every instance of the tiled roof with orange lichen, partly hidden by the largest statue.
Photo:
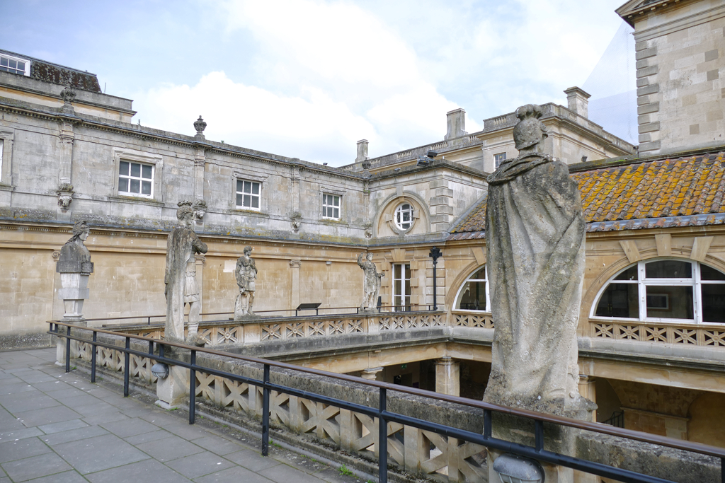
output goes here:
<path id="1" fill-rule="evenodd" d="M 579 185 L 587 231 L 725 223 L 725 153 L 592 169 Z M 449 240 L 483 238 L 486 196 L 457 223 Z M 464 232 L 475 237 L 462 238 Z"/>

